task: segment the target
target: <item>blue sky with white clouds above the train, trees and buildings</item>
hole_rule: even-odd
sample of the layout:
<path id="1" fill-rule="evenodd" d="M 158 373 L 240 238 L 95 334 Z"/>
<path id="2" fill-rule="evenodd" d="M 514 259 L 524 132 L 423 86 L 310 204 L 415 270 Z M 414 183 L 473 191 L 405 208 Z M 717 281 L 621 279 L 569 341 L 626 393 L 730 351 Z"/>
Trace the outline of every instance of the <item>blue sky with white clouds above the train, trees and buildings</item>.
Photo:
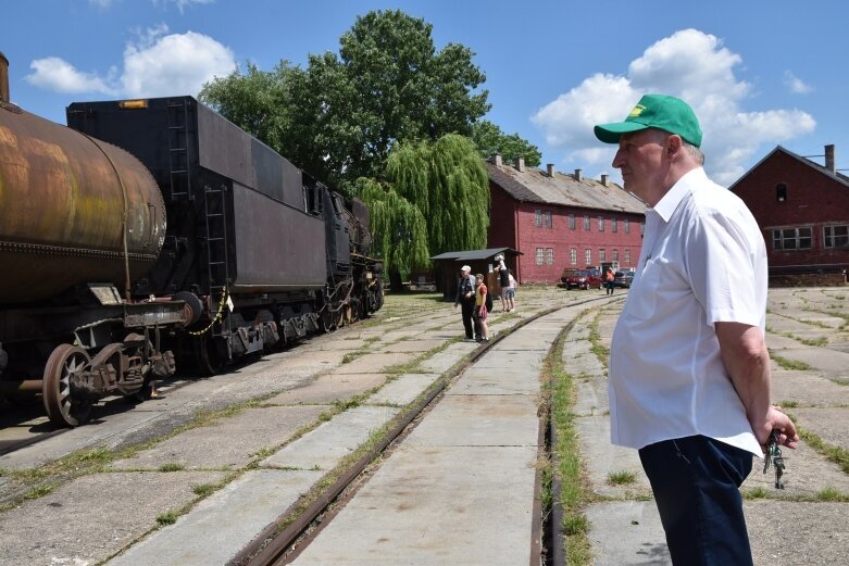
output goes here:
<path id="1" fill-rule="evenodd" d="M 14 3 L 14 10 L 10 5 Z M 0 51 L 12 101 L 64 123 L 73 101 L 197 95 L 246 61 L 338 52 L 358 15 L 400 9 L 460 42 L 484 71 L 486 116 L 559 171 L 619 178 L 592 125 L 645 92 L 685 98 L 706 168 L 734 183 L 776 144 L 836 146 L 849 168 L 845 0 L 30 0 L 4 7 Z M 814 158 L 820 163 L 822 158 Z"/>

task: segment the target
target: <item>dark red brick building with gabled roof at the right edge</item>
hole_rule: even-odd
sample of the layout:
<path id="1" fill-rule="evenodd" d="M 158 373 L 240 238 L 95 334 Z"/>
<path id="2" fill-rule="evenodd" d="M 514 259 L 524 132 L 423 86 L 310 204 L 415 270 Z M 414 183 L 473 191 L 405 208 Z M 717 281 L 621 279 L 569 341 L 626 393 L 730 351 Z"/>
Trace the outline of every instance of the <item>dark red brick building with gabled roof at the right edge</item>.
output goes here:
<path id="1" fill-rule="evenodd" d="M 778 146 L 729 187 L 758 221 L 770 275 L 839 273 L 849 266 L 849 177 Z"/>

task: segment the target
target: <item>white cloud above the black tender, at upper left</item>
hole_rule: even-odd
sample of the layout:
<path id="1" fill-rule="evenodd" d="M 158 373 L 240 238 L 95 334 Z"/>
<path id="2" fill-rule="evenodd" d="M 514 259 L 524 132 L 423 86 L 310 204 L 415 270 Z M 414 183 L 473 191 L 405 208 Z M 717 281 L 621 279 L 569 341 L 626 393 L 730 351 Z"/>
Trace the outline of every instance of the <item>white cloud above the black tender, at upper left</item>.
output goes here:
<path id="1" fill-rule="evenodd" d="M 60 58 L 30 63 L 32 85 L 66 93 L 102 93 L 111 97 L 197 96 L 204 83 L 236 68 L 233 51 L 209 36 L 186 32 L 168 34 L 166 25 L 139 32 L 124 50 L 124 71 L 110 68 L 105 76 L 85 73 Z"/>

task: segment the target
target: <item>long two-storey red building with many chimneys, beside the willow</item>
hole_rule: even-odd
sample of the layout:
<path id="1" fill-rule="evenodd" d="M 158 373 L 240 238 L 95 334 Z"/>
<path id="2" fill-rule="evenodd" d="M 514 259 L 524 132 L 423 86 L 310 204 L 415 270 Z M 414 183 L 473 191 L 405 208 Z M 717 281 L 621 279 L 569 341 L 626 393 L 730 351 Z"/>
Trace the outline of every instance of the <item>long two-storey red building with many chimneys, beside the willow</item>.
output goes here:
<path id="1" fill-rule="evenodd" d="M 588 179 L 580 169 L 566 175 L 548 165 L 526 167 L 524 160 L 486 163 L 491 198 L 487 244 L 519 250 L 520 282 L 555 282 L 564 267 L 639 260 L 645 203 L 610 183 Z"/>

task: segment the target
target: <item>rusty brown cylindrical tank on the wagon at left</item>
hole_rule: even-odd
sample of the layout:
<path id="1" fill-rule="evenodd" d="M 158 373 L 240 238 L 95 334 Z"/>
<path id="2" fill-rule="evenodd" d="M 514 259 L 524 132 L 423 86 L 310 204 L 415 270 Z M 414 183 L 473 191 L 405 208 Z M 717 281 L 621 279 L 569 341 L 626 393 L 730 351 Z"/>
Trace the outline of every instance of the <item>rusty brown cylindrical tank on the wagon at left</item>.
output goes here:
<path id="1" fill-rule="evenodd" d="M 86 282 L 128 292 L 164 236 L 162 196 L 137 159 L 0 101 L 0 304 Z"/>

